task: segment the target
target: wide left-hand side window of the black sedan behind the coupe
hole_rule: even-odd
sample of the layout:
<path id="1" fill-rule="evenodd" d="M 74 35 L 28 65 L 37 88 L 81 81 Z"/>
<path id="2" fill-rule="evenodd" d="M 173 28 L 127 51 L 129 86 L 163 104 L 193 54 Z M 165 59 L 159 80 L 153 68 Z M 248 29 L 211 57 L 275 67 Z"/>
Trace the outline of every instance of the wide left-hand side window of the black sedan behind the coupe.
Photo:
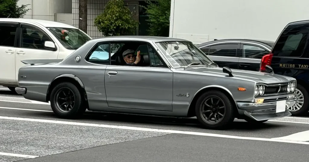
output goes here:
<path id="1" fill-rule="evenodd" d="M 238 44 L 220 44 L 210 47 L 209 55 L 210 56 L 227 56 L 227 57 L 236 57 Z"/>

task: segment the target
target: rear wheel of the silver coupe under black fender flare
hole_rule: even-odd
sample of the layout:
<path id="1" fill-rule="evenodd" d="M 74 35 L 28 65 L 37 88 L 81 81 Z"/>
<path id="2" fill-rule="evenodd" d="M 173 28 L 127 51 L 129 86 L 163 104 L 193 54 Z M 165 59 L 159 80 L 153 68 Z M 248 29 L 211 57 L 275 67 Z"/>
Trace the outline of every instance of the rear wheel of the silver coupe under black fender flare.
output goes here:
<path id="1" fill-rule="evenodd" d="M 70 82 L 56 85 L 50 95 L 52 110 L 60 118 L 80 117 L 86 111 L 84 103 L 78 88 Z"/>

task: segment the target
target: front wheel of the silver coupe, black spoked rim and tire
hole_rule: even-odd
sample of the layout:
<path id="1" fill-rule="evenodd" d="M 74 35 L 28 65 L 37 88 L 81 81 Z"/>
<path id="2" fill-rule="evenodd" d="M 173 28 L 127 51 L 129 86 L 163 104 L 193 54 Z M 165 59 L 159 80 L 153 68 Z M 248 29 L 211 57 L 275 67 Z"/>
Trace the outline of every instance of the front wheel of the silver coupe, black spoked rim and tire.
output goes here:
<path id="1" fill-rule="evenodd" d="M 216 90 L 205 92 L 197 99 L 195 114 L 207 129 L 225 129 L 235 119 L 233 104 L 224 93 Z"/>

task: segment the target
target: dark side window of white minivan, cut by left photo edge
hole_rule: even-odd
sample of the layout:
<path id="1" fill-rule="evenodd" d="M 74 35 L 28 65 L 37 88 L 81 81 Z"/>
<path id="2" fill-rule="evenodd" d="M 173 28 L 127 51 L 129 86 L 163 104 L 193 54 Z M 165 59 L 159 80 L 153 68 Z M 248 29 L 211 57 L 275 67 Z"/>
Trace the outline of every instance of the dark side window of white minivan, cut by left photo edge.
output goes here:
<path id="1" fill-rule="evenodd" d="M 17 27 L 0 24 L 0 46 L 14 47 Z"/>

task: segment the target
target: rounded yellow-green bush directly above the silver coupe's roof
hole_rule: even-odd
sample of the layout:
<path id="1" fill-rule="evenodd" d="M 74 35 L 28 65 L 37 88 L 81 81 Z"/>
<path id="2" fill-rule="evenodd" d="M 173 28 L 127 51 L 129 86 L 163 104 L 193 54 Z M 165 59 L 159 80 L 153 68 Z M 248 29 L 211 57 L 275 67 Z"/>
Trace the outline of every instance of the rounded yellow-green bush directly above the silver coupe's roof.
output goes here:
<path id="1" fill-rule="evenodd" d="M 104 36 L 134 35 L 138 22 L 133 19 L 129 8 L 124 6 L 123 0 L 110 0 L 104 13 L 95 18 L 94 26 Z"/>

